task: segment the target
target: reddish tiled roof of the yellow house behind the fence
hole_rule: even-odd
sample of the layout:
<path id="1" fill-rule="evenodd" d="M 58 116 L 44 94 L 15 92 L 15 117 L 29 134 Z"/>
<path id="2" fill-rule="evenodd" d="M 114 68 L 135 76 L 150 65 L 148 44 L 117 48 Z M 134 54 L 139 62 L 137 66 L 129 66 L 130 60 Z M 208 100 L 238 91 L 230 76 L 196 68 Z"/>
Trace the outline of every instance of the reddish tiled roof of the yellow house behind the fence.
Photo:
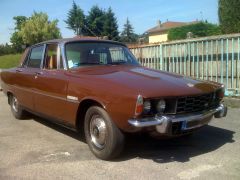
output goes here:
<path id="1" fill-rule="evenodd" d="M 147 30 L 147 33 L 156 33 L 156 32 L 162 32 L 162 31 L 166 31 L 175 27 L 181 27 L 181 26 L 185 26 L 185 25 L 189 25 L 189 24 L 195 24 L 199 21 L 193 21 L 193 22 L 174 22 L 174 21 L 167 21 L 165 23 L 162 24 L 158 24 L 157 26 Z"/>

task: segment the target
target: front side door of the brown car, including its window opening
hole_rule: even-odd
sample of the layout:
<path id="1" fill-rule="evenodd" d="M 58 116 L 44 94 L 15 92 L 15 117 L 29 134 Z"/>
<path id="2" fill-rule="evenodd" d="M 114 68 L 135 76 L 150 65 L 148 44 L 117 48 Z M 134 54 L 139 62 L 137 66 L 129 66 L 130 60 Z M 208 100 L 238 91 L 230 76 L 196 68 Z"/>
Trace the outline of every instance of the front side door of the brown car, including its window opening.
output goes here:
<path id="1" fill-rule="evenodd" d="M 47 44 L 42 68 L 36 74 L 35 111 L 67 122 L 66 93 L 68 80 L 62 66 L 58 44 Z"/>

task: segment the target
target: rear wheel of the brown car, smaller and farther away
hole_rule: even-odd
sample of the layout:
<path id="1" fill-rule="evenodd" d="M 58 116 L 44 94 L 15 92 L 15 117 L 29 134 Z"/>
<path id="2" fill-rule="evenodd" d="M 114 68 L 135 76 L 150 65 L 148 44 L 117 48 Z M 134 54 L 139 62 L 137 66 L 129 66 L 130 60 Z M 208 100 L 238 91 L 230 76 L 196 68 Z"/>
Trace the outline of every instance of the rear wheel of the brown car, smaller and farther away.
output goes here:
<path id="1" fill-rule="evenodd" d="M 19 104 L 18 99 L 14 95 L 9 95 L 8 98 L 13 116 L 16 119 L 24 119 L 26 117 L 26 112 Z"/>

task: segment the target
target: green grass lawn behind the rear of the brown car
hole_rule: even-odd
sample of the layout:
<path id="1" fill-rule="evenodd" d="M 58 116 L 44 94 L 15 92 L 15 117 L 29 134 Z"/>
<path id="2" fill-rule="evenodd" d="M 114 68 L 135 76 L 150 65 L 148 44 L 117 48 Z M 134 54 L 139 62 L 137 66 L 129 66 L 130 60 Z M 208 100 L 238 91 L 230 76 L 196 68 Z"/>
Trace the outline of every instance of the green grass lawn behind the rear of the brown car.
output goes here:
<path id="1" fill-rule="evenodd" d="M 19 64 L 21 54 L 0 56 L 0 69 L 16 67 Z"/>

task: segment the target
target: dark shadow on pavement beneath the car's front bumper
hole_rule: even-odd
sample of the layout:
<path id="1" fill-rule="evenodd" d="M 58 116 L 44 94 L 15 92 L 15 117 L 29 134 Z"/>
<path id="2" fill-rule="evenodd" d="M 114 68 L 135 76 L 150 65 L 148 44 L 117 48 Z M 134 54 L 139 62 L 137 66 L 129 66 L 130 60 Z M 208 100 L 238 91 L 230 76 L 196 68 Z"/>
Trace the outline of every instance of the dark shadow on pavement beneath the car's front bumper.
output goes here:
<path id="1" fill-rule="evenodd" d="M 208 125 L 191 136 L 174 139 L 156 139 L 143 134 L 129 136 L 122 157 L 117 161 L 139 158 L 152 159 L 157 163 L 187 162 L 191 157 L 209 153 L 226 143 L 233 143 L 234 133 Z"/>

